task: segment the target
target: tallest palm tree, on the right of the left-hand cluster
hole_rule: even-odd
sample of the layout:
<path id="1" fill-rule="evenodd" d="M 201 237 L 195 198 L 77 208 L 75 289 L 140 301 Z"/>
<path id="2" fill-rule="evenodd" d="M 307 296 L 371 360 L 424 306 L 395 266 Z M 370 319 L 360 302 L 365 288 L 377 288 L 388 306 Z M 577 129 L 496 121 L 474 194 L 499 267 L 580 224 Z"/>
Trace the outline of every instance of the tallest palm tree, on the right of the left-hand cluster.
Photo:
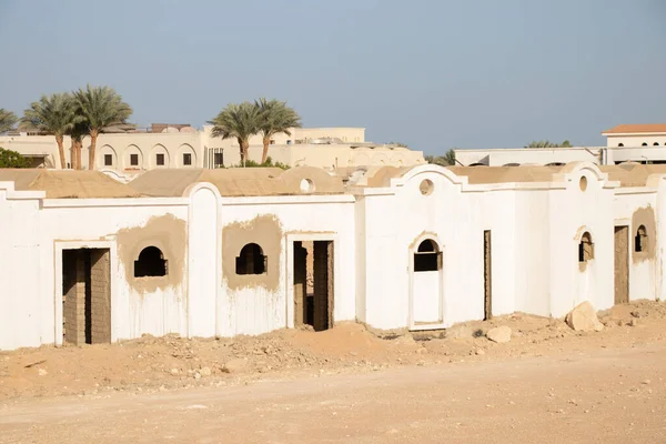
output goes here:
<path id="1" fill-rule="evenodd" d="M 125 123 L 132 115 L 132 108 L 109 87 L 91 87 L 74 92 L 79 112 L 88 122 L 90 150 L 88 151 L 88 169 L 94 170 L 94 150 L 97 139 L 104 128 Z"/>

